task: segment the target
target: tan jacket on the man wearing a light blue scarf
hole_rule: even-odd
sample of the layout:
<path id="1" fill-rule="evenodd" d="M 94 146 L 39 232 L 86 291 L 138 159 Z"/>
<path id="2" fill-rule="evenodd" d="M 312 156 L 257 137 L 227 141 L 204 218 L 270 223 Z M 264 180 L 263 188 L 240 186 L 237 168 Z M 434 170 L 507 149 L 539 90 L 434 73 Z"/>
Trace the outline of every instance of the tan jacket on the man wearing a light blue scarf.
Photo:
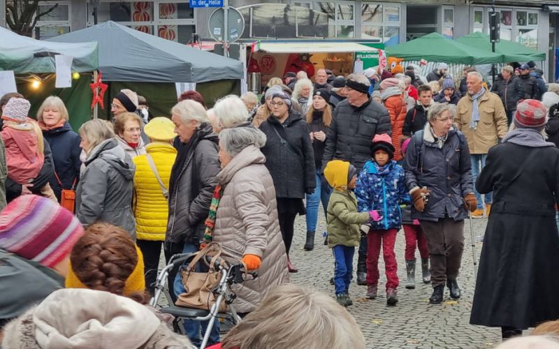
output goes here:
<path id="1" fill-rule="evenodd" d="M 507 114 L 504 112 L 501 98 L 486 91 L 479 98 L 479 123 L 477 128 L 470 128 L 473 101 L 469 95 L 458 101 L 456 106 L 456 126 L 464 133 L 470 154 L 487 154 L 489 148 L 507 135 Z"/>

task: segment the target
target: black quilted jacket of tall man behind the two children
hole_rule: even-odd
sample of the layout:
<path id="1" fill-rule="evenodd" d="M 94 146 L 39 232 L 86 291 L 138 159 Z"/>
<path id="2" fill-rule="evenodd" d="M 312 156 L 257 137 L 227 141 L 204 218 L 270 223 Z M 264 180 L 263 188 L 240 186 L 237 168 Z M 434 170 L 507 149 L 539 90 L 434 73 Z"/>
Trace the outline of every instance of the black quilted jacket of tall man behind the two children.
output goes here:
<path id="1" fill-rule="evenodd" d="M 361 107 L 347 100 L 338 103 L 326 135 L 322 170 L 328 161 L 349 161 L 358 171 L 371 158 L 372 138 L 380 133 L 391 134 L 389 111 L 372 99 Z"/>

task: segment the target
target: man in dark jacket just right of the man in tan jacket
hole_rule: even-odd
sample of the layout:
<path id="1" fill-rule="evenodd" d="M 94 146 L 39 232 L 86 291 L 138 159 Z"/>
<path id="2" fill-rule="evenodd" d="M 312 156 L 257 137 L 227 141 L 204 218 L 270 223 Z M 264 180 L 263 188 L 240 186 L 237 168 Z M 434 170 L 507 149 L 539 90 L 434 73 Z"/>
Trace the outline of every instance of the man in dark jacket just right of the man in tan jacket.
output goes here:
<path id="1" fill-rule="evenodd" d="M 491 92 L 500 96 L 510 125 L 516 111 L 516 103 L 524 99 L 524 84 L 514 75 L 514 68 L 511 66 L 502 67 L 498 79 L 491 87 Z"/>

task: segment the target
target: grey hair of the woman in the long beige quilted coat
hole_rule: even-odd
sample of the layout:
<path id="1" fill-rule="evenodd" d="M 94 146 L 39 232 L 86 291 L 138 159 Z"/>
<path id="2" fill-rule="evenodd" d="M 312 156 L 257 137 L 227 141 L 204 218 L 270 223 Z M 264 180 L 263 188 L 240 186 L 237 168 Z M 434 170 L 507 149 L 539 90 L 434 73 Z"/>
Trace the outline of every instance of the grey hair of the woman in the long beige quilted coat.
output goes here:
<path id="1" fill-rule="evenodd" d="M 266 135 L 254 126 L 226 128 L 219 133 L 219 144 L 229 156 L 237 156 L 242 149 L 266 144 Z"/>

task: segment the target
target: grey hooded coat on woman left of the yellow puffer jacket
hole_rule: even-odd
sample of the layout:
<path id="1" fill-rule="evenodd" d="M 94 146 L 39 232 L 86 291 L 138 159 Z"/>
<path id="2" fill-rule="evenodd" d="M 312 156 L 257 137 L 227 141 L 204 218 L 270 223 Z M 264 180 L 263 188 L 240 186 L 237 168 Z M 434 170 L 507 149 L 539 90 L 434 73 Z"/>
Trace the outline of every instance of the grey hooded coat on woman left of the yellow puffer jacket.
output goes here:
<path id="1" fill-rule="evenodd" d="M 132 213 L 136 165 L 115 138 L 94 147 L 76 190 L 76 216 L 83 225 L 106 221 L 130 232 L 136 239 Z"/>

